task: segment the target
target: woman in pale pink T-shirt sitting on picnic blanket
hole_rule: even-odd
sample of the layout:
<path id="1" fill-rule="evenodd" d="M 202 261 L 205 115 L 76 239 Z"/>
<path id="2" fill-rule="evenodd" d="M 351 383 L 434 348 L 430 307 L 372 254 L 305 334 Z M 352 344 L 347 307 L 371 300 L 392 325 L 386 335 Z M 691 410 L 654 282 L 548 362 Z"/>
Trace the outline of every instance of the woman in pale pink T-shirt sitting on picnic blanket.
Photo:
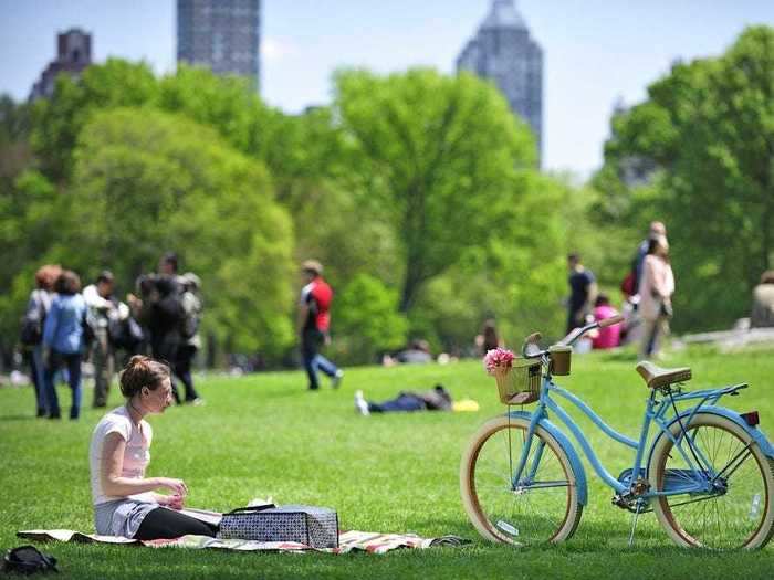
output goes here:
<path id="1" fill-rule="evenodd" d="M 145 477 L 153 430 L 144 418 L 171 404 L 169 367 L 132 357 L 121 375 L 121 392 L 126 404 L 102 418 L 88 450 L 97 534 L 140 540 L 215 536 L 215 527 L 178 512 L 188 493 L 182 479 Z"/>

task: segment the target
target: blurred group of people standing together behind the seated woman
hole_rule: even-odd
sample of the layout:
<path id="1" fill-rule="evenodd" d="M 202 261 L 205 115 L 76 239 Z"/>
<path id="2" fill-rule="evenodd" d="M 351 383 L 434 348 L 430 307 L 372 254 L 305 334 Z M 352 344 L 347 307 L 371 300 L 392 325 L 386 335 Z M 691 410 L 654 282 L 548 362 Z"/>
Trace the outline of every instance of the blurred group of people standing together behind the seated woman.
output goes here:
<path id="1" fill-rule="evenodd" d="M 177 256 L 166 254 L 159 274 L 140 276 L 139 294 L 123 303 L 114 296 L 115 278 L 103 271 L 81 291 L 81 278 L 57 265 L 35 273 L 22 320 L 21 342 L 30 362 L 38 416 L 61 419 L 56 378 L 71 389 L 70 419 L 79 419 L 82 363 L 94 368 L 94 408 L 107 404 L 116 357 L 150 351 L 169 361 L 185 386 L 185 400 L 199 403 L 191 378 L 191 361 L 200 346 L 200 281 L 195 274 L 177 275 Z M 180 402 L 172 382 L 175 399 Z"/>

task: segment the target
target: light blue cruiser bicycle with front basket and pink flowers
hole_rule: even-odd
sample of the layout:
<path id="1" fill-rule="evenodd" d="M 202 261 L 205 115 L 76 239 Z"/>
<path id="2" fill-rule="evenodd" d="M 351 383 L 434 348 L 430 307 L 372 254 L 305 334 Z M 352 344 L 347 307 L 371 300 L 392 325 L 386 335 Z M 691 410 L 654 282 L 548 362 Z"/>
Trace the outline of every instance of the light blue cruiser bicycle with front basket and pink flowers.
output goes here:
<path id="1" fill-rule="evenodd" d="M 637 371 L 650 388 L 638 440 L 608 426 L 580 398 L 553 381 L 569 375 L 572 345 L 587 331 L 618 324 L 609 318 L 576 329 L 541 350 L 531 335 L 522 359 L 498 376 L 502 402 L 536 402 L 481 426 L 464 452 L 460 488 L 478 531 L 493 541 L 529 546 L 568 539 L 587 503 L 586 473 L 569 437 L 615 495 L 614 505 L 637 517 L 653 512 L 680 546 L 710 549 L 761 548 L 774 530 L 774 447 L 756 426 L 757 412 L 719 407 L 747 384 L 686 391 L 690 368 L 662 369 L 650 362 Z M 610 439 L 634 451 L 632 466 L 617 477 L 599 462 L 583 431 L 559 407 L 579 409 Z M 652 432 L 652 436 L 650 436 Z"/>

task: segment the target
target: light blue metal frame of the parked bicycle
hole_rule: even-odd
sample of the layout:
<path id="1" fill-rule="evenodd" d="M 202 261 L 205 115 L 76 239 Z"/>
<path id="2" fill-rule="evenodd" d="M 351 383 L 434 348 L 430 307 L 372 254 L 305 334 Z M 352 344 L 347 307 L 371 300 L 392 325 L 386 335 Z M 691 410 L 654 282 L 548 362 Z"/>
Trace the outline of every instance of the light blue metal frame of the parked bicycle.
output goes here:
<path id="1" fill-rule="evenodd" d="M 548 368 L 547 360 L 544 358 L 544 368 Z M 534 479 L 534 476 L 537 472 L 537 467 L 540 465 L 540 460 L 542 456 L 543 449 L 542 446 L 544 443 L 538 443 L 541 447 L 538 447 L 533 456 L 533 460 L 531 462 L 531 465 L 527 466 L 527 458 L 530 456 L 530 451 L 532 447 L 532 442 L 534 441 L 534 433 L 535 430 L 537 429 L 538 425 L 542 423 L 545 426 L 545 423 L 547 422 L 548 419 L 548 411 L 553 412 L 562 423 L 569 430 L 569 432 L 573 434 L 575 440 L 578 442 L 580 445 L 580 449 L 583 450 L 583 453 L 585 454 L 586 458 L 588 460 L 589 464 L 596 472 L 597 476 L 605 482 L 606 485 L 611 487 L 617 494 L 619 495 L 625 495 L 625 494 L 630 494 L 631 493 L 631 483 L 636 478 L 639 477 L 645 477 L 647 479 L 648 473 L 647 473 L 647 465 L 649 463 L 650 454 L 652 453 L 652 449 L 658 441 L 660 436 L 667 436 L 669 437 L 672 443 L 674 444 L 674 449 L 678 450 L 678 452 L 681 454 L 682 458 L 686 461 L 686 464 L 689 466 L 689 470 L 692 474 L 692 477 L 690 478 L 684 478 L 687 482 L 686 485 L 679 485 L 679 486 L 670 486 L 668 489 L 665 489 L 662 492 L 651 492 L 651 491 L 646 491 L 641 494 L 638 494 L 637 497 L 640 498 L 650 498 L 650 497 L 656 497 L 660 495 L 677 495 L 677 494 L 687 494 L 687 493 L 711 493 L 713 487 L 712 484 L 714 479 L 719 477 L 719 474 L 717 473 L 711 473 L 710 470 L 708 470 L 705 466 L 709 465 L 709 462 L 707 461 L 705 457 L 702 456 L 701 452 L 697 449 L 695 445 L 692 444 L 692 441 L 690 437 L 687 437 L 687 445 L 683 445 L 683 434 L 682 432 L 679 433 L 677 436 L 674 436 L 671 431 L 670 426 L 673 424 L 676 420 L 684 420 L 684 424 L 688 424 L 690 420 L 695 415 L 697 412 L 701 410 L 718 410 L 720 408 L 713 407 L 718 400 L 723 397 L 724 394 L 735 394 L 736 391 L 740 389 L 746 388 L 746 384 L 735 384 L 731 387 L 724 387 L 724 388 L 718 388 L 718 389 L 707 389 L 707 390 L 701 390 L 701 391 L 692 391 L 692 392 L 687 392 L 687 393 L 680 393 L 679 391 L 677 393 L 671 392 L 669 396 L 663 396 L 659 399 L 659 392 L 657 390 L 651 390 L 650 397 L 646 401 L 646 409 L 645 409 L 645 414 L 642 419 L 642 428 L 640 430 L 639 437 L 637 440 L 630 439 L 619 432 L 617 432 L 615 429 L 610 428 L 605 421 L 596 413 L 594 410 L 588 407 L 579 397 L 571 393 L 566 389 L 563 389 L 558 384 L 554 383 L 550 375 L 544 375 L 543 376 L 543 381 L 542 381 L 542 388 L 541 388 L 541 396 L 540 400 L 537 402 L 537 408 L 535 409 L 534 412 L 529 414 L 530 418 L 530 426 L 527 430 L 527 437 L 526 442 L 524 445 L 524 449 L 522 451 L 522 455 L 516 464 L 516 470 L 513 473 L 513 479 L 512 479 L 512 485 L 514 488 L 520 485 L 530 485 L 530 482 Z M 575 408 L 580 410 L 583 414 L 585 414 L 587 418 L 589 418 L 594 424 L 603 432 L 605 433 L 609 439 L 613 439 L 614 441 L 623 444 L 626 447 L 630 447 L 631 450 L 635 451 L 635 460 L 631 466 L 631 472 L 630 472 L 630 477 L 629 481 L 624 483 L 621 479 L 614 477 L 610 472 L 608 472 L 605 466 L 602 464 L 599 458 L 597 457 L 596 453 L 594 452 L 594 449 L 592 447 L 590 443 L 588 442 L 587 437 L 584 435 L 583 431 L 578 426 L 578 424 L 573 420 L 569 414 L 552 398 L 552 394 L 558 396 L 569 403 L 572 403 Z M 682 402 L 682 401 L 689 401 L 689 400 L 694 400 L 699 399 L 699 403 L 682 413 L 677 411 L 676 403 Z M 709 403 L 709 404 L 708 404 Z M 672 410 L 672 413 L 670 414 L 669 411 Z M 724 410 L 721 410 L 724 411 Z M 522 413 L 520 413 L 522 414 Z M 723 413 L 725 414 L 725 413 Z M 526 413 L 524 413 L 526 415 Z M 739 415 L 736 415 L 739 416 Z M 648 446 L 648 436 L 650 434 L 652 425 L 656 424 L 658 429 L 658 435 L 653 437 L 652 443 L 650 446 Z M 553 429 L 553 426 L 552 426 Z M 688 447 L 688 449 L 686 449 Z M 566 450 L 568 454 L 574 454 L 575 451 L 573 449 Z M 646 457 L 646 451 L 647 451 L 647 457 Z M 574 461 L 573 462 L 576 465 L 580 465 L 579 461 Z M 582 467 L 583 468 L 583 467 Z M 526 477 L 524 477 L 524 473 L 526 470 Z M 585 476 L 583 477 L 585 481 Z M 546 486 L 552 486 L 554 484 L 552 483 L 542 483 L 538 484 L 542 487 Z M 561 485 L 561 484 L 555 484 L 555 485 Z M 566 484 L 564 484 L 566 485 Z"/>

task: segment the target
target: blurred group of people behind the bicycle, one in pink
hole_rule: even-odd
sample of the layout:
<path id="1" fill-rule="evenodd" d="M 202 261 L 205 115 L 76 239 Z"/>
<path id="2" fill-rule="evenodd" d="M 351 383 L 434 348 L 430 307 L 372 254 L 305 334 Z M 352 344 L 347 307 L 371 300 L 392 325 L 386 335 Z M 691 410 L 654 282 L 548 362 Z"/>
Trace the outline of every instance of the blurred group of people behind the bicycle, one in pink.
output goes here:
<path id="1" fill-rule="evenodd" d="M 567 256 L 567 334 L 587 324 L 589 317 L 602 320 L 618 314 L 610 305 L 608 296 L 598 292 L 594 274 L 583 265 L 578 254 Z M 650 223 L 648 236 L 637 249 L 631 271 L 621 284 L 621 291 L 626 300 L 625 308 L 629 313 L 624 333 L 627 333 L 629 340 L 635 336 L 639 337 L 641 358 L 657 357 L 660 341 L 669 331 L 674 293 L 674 274 L 670 265 L 667 228 L 663 223 Z M 621 329 L 617 326 L 600 329 L 593 339 L 594 347 L 618 346 L 620 333 Z"/>

